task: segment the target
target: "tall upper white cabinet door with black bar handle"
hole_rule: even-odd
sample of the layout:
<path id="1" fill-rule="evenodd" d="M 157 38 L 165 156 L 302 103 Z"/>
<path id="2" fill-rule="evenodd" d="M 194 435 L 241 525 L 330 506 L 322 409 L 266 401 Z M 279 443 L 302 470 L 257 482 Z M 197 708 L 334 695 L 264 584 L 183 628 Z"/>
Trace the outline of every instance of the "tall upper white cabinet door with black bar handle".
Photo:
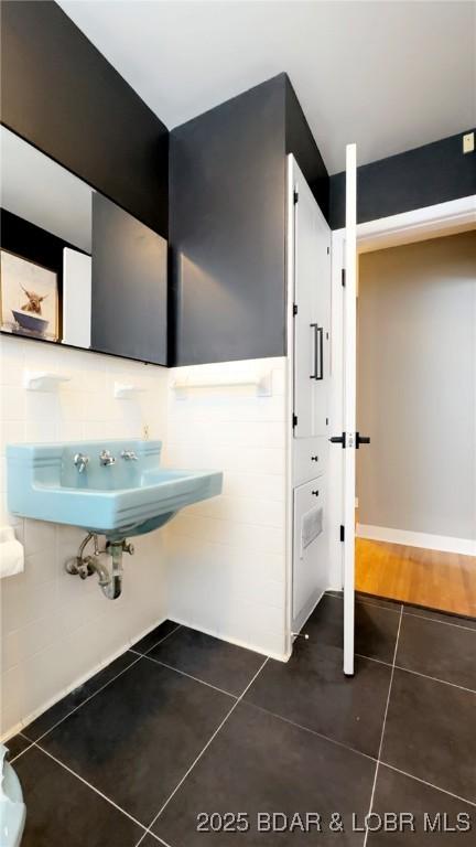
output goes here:
<path id="1" fill-rule="evenodd" d="M 293 203 L 294 426 L 295 438 L 327 435 L 331 230 L 295 161 L 290 186 Z"/>

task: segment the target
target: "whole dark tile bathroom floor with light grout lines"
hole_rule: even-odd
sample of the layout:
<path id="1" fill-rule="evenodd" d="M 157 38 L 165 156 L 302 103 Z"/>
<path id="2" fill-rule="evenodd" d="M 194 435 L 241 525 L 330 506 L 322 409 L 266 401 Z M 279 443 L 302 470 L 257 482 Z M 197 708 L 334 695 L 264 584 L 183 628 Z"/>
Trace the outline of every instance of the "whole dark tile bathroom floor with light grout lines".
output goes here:
<path id="1" fill-rule="evenodd" d="M 322 837 L 316 814 L 329 844 L 469 847 L 476 630 L 360 596 L 350 679 L 342 617 L 326 594 L 285 664 L 158 626 L 8 742 L 23 847 L 299 847 Z M 386 812 L 416 832 L 374 832 Z M 425 833 L 425 813 L 472 829 Z"/>

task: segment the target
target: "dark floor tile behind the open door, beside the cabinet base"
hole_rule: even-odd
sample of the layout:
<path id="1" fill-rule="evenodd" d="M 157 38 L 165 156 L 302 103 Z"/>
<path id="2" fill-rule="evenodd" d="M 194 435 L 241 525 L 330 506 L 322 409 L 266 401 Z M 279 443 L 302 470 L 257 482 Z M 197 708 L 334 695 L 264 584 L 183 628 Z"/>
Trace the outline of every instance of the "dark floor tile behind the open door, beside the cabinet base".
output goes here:
<path id="1" fill-rule="evenodd" d="M 378 605 L 356 603 L 355 651 L 368 658 L 380 662 L 393 661 L 400 610 L 382 609 Z M 303 631 L 310 641 L 318 646 L 329 644 L 342 647 L 344 641 L 344 603 L 335 597 L 323 597 Z"/>

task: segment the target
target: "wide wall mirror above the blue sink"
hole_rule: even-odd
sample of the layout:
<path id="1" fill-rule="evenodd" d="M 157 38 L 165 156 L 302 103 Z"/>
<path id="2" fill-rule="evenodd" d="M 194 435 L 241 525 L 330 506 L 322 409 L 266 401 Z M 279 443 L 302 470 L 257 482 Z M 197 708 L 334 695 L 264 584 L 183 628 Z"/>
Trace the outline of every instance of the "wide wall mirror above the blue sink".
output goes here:
<path id="1" fill-rule="evenodd" d="M 166 364 L 166 240 L 0 132 L 1 332 Z"/>

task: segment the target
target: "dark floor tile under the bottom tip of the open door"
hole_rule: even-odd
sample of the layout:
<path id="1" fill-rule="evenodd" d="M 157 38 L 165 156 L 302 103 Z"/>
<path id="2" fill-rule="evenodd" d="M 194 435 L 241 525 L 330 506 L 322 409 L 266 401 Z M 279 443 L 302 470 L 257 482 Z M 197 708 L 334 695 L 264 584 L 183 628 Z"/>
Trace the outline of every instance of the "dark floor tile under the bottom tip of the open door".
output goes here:
<path id="1" fill-rule="evenodd" d="M 245 699 L 376 757 L 390 674 L 387 665 L 358 658 L 348 678 L 342 650 L 299 642 L 288 663 L 268 662 Z"/>

